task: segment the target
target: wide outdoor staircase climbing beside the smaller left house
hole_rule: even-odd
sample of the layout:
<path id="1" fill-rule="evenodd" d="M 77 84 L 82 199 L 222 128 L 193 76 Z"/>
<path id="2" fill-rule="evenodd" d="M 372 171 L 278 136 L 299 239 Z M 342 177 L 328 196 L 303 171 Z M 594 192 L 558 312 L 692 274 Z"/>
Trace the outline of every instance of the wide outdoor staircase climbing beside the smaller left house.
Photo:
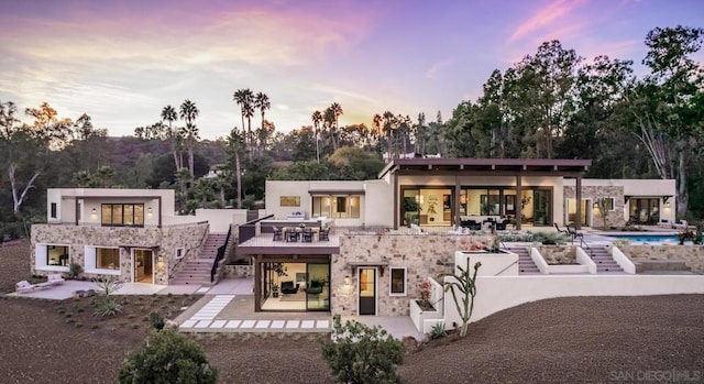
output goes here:
<path id="1" fill-rule="evenodd" d="M 206 239 L 200 250 L 200 254 L 195 259 L 186 261 L 170 284 L 211 286 L 213 284 L 210 282 L 212 263 L 218 255 L 218 248 L 224 244 L 227 237 L 227 233 L 209 233 L 208 239 Z"/>

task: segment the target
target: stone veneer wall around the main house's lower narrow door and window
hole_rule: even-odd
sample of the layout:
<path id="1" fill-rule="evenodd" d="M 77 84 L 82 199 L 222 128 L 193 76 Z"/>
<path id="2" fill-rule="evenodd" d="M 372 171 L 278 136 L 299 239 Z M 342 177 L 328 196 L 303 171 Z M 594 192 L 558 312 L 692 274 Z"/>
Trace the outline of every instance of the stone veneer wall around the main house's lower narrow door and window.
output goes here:
<path id="1" fill-rule="evenodd" d="M 377 274 L 378 316 L 408 315 L 409 300 L 418 299 L 418 284 L 427 277 L 452 274 L 454 252 L 475 244 L 491 248 L 496 244 L 494 235 L 457 234 L 393 234 L 356 233 L 340 234 L 340 254 L 332 255 L 331 310 L 333 314 L 354 316 L 358 314 L 356 268 L 349 262 L 385 262 L 384 276 Z M 406 267 L 406 295 L 392 296 L 391 267 Z M 352 287 L 344 286 L 349 276 Z"/>

